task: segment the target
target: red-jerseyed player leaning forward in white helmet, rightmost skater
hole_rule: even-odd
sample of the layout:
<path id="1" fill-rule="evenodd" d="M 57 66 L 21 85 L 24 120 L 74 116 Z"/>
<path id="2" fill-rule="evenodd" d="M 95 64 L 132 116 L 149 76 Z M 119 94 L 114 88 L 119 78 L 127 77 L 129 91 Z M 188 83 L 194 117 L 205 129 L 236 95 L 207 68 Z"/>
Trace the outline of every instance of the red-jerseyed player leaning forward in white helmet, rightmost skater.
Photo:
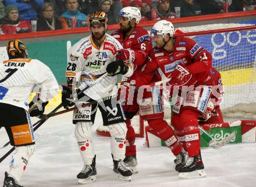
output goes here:
<path id="1" fill-rule="evenodd" d="M 140 77 L 144 79 L 145 74 L 160 68 L 170 78 L 172 96 L 175 96 L 172 124 L 183 149 L 189 154 L 186 165 L 179 170 L 179 177 L 204 177 L 198 116 L 205 112 L 214 86 L 210 73 L 212 57 L 192 39 L 173 36 L 173 33 L 169 21 L 155 23 L 151 34 L 157 46 L 151 50 Z"/>

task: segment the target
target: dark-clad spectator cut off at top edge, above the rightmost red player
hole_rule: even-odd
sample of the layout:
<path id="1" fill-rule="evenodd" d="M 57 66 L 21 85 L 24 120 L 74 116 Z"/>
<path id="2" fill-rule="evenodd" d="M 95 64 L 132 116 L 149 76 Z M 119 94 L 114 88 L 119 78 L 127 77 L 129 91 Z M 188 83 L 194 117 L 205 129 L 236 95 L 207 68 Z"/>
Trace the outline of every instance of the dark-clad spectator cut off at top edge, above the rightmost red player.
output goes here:
<path id="1" fill-rule="evenodd" d="M 176 6 L 180 6 L 180 17 L 198 16 L 201 14 L 200 5 L 194 0 L 182 0 Z"/>

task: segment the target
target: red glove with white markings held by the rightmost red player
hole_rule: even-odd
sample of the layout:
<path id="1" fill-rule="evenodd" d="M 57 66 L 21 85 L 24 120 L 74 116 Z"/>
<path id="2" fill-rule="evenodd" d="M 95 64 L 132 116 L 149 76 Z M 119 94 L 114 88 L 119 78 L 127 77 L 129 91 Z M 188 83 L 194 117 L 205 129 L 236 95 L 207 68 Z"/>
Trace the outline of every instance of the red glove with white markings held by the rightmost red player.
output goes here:
<path id="1" fill-rule="evenodd" d="M 172 78 L 170 79 L 170 84 L 176 86 L 182 86 L 187 81 L 189 81 L 190 77 L 189 70 L 183 64 L 178 64 L 175 70 L 172 72 Z"/>

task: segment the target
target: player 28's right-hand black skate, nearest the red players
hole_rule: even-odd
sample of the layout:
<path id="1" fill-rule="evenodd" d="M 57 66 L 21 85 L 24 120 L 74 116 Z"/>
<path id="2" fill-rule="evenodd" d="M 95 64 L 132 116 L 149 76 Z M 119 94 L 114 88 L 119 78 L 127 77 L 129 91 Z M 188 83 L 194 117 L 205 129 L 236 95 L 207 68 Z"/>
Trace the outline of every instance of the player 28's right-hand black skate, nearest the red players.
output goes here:
<path id="1" fill-rule="evenodd" d="M 122 181 L 131 181 L 131 175 L 133 174 L 131 168 L 123 162 L 123 160 L 113 160 L 113 170 L 117 173 L 118 179 Z"/>

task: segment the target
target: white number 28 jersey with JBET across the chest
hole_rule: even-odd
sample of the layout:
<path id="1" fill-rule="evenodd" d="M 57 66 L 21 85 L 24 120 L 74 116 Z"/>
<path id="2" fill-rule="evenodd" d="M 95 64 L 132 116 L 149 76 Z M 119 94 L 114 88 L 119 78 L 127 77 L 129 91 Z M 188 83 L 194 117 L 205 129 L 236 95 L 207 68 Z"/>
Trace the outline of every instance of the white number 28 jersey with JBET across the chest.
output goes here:
<path id="1" fill-rule="evenodd" d="M 94 81 L 105 74 L 107 65 L 116 60 L 116 51 L 122 48 L 122 45 L 108 34 L 99 48 L 93 42 L 93 36 L 81 39 L 69 50 L 66 70 L 68 86 L 77 86 L 82 90 L 93 84 L 94 86 L 91 85 L 84 91 L 84 94 L 93 100 L 110 96 L 116 86 L 117 76 L 106 76 L 95 84 Z M 129 71 L 123 76 L 129 77 L 133 74 L 133 66 L 130 62 L 126 65 Z"/>

